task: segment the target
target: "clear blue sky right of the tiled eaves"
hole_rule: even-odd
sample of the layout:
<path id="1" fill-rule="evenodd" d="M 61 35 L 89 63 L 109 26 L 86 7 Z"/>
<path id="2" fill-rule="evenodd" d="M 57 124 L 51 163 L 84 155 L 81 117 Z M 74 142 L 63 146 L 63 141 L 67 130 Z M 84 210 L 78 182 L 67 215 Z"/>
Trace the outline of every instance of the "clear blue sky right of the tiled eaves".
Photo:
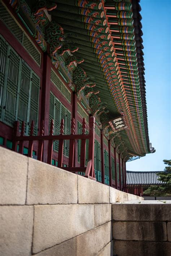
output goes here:
<path id="1" fill-rule="evenodd" d="M 159 171 L 171 159 L 171 1 L 141 0 L 149 139 L 156 149 L 127 170 Z"/>

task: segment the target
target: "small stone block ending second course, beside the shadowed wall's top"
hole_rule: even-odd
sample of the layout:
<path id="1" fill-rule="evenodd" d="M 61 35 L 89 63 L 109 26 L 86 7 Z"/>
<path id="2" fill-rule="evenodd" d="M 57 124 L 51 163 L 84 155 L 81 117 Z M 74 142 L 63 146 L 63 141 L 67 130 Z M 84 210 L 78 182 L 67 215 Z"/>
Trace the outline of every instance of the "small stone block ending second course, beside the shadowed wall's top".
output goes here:
<path id="1" fill-rule="evenodd" d="M 94 204 L 95 227 L 111 221 L 111 204 Z"/>

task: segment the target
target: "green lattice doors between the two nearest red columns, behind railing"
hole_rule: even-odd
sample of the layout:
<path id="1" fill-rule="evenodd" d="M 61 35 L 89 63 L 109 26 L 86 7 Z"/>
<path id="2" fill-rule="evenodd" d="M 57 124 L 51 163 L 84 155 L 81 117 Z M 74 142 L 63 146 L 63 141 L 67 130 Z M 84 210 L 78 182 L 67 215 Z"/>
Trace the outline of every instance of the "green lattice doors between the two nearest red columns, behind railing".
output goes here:
<path id="1" fill-rule="evenodd" d="M 61 103 L 51 92 L 50 94 L 50 111 L 49 124 L 54 120 L 54 135 L 60 134 L 61 119 L 64 119 L 64 135 L 71 133 L 71 112 Z M 59 141 L 53 143 L 53 150 L 58 152 Z M 64 140 L 63 154 L 69 156 L 69 140 Z"/>

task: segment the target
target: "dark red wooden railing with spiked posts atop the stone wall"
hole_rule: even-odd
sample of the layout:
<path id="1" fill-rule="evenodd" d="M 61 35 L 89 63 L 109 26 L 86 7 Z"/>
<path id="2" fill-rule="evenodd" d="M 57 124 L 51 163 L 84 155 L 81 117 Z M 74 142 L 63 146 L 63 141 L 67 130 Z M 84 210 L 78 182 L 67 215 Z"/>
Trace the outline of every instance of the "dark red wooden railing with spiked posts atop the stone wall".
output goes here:
<path id="1" fill-rule="evenodd" d="M 13 146 L 12 150 L 17 152 L 17 145 L 19 142 L 19 153 L 23 154 L 24 142 L 29 141 L 28 156 L 32 157 L 33 143 L 38 141 L 38 153 L 37 157 L 39 161 L 42 161 L 43 156 L 43 145 L 44 141 L 48 141 L 48 156 L 47 163 L 52 164 L 52 153 L 53 153 L 53 141 L 58 140 L 58 167 L 68 170 L 70 172 L 85 172 L 85 177 L 96 180 L 94 170 L 94 144 L 95 144 L 95 118 L 90 117 L 89 122 L 89 133 L 86 134 L 86 121 L 83 118 L 82 122 L 82 134 L 75 134 L 75 120 L 71 120 L 71 133 L 70 135 L 64 135 L 64 120 L 61 120 L 60 135 L 53 135 L 54 123 L 53 119 L 50 125 L 49 135 L 44 135 L 44 120 L 41 121 L 40 132 L 38 136 L 33 135 L 34 121 L 31 122 L 30 135 L 25 136 L 25 122 L 22 122 L 21 133 L 19 132 L 19 121 L 14 122 L 13 130 Z M 80 166 L 74 166 L 75 156 L 75 140 L 81 140 L 81 154 L 80 154 Z M 88 151 L 88 163 L 86 164 L 86 139 L 89 140 L 89 151 Z M 69 140 L 69 164 L 68 167 L 63 167 L 63 142 Z"/>

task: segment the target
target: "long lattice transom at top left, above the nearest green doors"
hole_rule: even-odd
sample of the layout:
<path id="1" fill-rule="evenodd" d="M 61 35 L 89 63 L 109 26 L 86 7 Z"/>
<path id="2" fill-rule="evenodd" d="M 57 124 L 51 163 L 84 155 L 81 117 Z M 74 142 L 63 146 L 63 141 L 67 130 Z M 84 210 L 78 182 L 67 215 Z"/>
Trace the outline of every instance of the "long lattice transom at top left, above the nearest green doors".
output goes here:
<path id="1" fill-rule="evenodd" d="M 17 23 L 17 21 L 11 16 L 11 14 L 6 10 L 5 6 L 0 4 L 0 19 L 5 23 L 8 29 L 14 34 L 14 36 L 19 40 L 19 42 L 25 47 L 30 56 L 35 60 L 35 62 L 40 66 L 41 64 L 41 53 L 31 42 L 30 38 L 26 35 L 25 31 Z"/>

